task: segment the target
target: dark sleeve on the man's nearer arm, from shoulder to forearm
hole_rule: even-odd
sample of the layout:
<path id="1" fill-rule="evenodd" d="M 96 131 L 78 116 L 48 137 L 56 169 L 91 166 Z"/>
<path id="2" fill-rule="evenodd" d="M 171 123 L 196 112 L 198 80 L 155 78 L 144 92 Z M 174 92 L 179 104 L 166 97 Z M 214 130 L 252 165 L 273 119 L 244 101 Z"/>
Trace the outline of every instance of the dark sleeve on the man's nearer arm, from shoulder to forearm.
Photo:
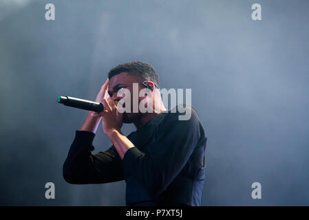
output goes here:
<path id="1" fill-rule="evenodd" d="M 159 127 L 156 141 L 149 148 L 154 153 L 144 153 L 133 147 L 125 153 L 125 173 L 131 173 L 151 195 L 159 195 L 180 173 L 189 160 L 200 137 L 200 120 L 192 109 L 189 120 L 178 120 L 180 113 L 169 113 Z"/>

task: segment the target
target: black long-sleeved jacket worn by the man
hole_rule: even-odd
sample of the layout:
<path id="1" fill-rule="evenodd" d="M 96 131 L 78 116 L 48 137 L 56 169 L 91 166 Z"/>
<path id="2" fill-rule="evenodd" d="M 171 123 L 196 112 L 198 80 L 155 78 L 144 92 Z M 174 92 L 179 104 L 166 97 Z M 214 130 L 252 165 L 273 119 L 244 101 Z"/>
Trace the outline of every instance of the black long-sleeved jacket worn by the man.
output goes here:
<path id="1" fill-rule="evenodd" d="M 189 120 L 167 111 L 127 137 L 134 144 L 123 160 L 116 148 L 92 155 L 95 134 L 76 131 L 63 177 L 70 184 L 104 184 L 125 179 L 127 206 L 200 206 L 205 175 L 206 135 L 191 107 Z"/>

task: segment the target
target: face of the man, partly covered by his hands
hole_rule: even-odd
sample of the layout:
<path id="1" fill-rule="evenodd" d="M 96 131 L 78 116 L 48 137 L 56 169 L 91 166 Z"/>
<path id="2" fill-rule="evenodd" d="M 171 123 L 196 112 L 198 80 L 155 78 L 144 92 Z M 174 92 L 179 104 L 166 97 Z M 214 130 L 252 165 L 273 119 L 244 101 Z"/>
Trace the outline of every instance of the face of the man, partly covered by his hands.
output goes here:
<path id="1" fill-rule="evenodd" d="M 113 76 L 109 79 L 109 96 L 113 98 L 113 100 L 118 103 L 118 101 L 122 97 L 117 97 L 118 90 L 125 88 L 130 91 L 131 94 L 131 113 L 123 113 L 122 114 L 122 122 L 124 123 L 133 123 L 140 119 L 142 116 L 142 113 L 133 113 L 133 83 L 138 83 L 138 94 L 140 92 L 140 89 L 144 89 L 142 86 L 142 78 L 135 76 L 134 74 L 128 74 L 127 72 L 122 72 L 120 74 L 117 74 L 116 76 Z M 144 97 L 138 97 L 138 104 Z"/>

